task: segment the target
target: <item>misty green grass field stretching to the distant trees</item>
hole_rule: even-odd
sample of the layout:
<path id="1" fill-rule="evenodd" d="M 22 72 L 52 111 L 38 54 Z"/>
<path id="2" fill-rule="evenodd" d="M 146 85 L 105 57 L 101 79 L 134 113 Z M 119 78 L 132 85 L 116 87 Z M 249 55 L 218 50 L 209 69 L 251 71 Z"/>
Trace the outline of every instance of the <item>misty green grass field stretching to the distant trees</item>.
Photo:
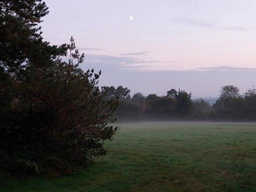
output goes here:
<path id="1" fill-rule="evenodd" d="M 108 153 L 73 176 L 0 191 L 256 191 L 256 123 L 122 123 Z"/>

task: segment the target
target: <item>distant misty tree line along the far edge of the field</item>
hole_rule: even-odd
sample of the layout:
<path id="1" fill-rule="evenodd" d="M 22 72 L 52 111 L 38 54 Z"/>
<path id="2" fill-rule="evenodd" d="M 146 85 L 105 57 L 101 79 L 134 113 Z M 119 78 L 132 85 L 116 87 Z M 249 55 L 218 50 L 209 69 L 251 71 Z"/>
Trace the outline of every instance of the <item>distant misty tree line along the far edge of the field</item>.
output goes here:
<path id="1" fill-rule="evenodd" d="M 202 98 L 191 99 L 185 90 L 170 89 L 164 96 L 155 93 L 143 95 L 136 92 L 130 96 L 127 87 L 102 86 L 105 98 L 119 98 L 115 111 L 118 120 L 256 120 L 256 88 L 240 94 L 238 87 L 221 87 L 219 98 L 210 105 Z"/>

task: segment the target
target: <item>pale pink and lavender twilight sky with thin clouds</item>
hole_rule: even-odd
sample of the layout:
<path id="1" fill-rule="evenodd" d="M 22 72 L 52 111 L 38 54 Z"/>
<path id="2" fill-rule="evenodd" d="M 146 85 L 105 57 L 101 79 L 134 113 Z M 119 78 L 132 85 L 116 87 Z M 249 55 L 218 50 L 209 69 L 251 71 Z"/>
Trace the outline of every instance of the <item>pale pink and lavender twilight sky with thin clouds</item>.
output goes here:
<path id="1" fill-rule="evenodd" d="M 256 85 L 255 0 L 45 2 L 42 36 L 51 44 L 73 36 L 81 68 L 101 69 L 100 86 L 145 95 L 180 88 L 195 98 Z"/>

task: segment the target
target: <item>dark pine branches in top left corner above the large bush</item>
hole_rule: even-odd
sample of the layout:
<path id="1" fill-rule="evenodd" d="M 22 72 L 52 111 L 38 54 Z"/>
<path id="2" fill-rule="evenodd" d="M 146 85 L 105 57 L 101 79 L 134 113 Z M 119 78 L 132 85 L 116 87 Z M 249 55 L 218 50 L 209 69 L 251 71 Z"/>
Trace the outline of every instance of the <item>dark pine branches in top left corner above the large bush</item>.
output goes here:
<path id="1" fill-rule="evenodd" d="M 0 0 L 0 65 L 4 69 L 23 74 L 28 63 L 42 67 L 63 54 L 64 45 L 51 46 L 42 40 L 38 23 L 47 9 L 42 0 Z"/>

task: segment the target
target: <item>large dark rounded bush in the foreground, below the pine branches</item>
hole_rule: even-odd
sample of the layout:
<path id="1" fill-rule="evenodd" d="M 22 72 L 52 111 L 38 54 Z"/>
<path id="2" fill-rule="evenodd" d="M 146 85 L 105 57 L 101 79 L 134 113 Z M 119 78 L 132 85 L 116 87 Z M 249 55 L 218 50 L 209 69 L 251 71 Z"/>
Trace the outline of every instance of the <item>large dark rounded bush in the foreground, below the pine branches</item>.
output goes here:
<path id="1" fill-rule="evenodd" d="M 70 40 L 66 48 L 72 52 Z M 29 63 L 25 76 L 2 70 L 1 171 L 70 174 L 105 154 L 103 141 L 118 129 L 106 123 L 114 120 L 117 100 L 103 99 L 97 86 L 100 72 L 84 72 L 78 66 L 82 61 L 83 54 L 75 50 L 67 62 L 58 58 L 43 68 Z"/>

